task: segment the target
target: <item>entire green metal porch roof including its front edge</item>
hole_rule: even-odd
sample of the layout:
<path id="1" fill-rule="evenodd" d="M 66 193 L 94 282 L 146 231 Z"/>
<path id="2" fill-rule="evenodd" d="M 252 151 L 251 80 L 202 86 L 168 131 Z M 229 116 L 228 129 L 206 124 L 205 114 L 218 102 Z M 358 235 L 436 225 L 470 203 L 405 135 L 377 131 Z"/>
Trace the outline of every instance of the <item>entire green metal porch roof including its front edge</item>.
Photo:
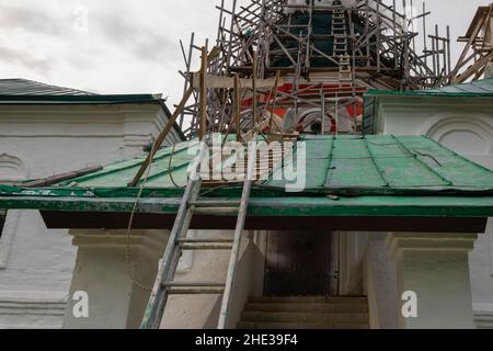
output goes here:
<path id="1" fill-rule="evenodd" d="M 305 137 L 307 186 L 285 192 L 286 182 L 270 180 L 252 189 L 251 214 L 271 215 L 429 215 L 492 216 L 493 171 L 427 137 Z M 187 166 L 198 144 L 174 152 L 160 150 L 142 193 L 139 211 L 176 211 Z M 299 152 L 298 144 L 295 152 Z M 23 189 L 0 186 L 0 207 L 46 211 L 128 212 L 139 191 L 126 184 L 144 158 L 55 184 Z M 176 188 L 174 183 L 180 185 Z M 203 196 L 237 199 L 241 184 L 208 189 Z M 328 196 L 328 195 L 337 195 Z M 256 208 L 256 210 L 255 210 Z"/>

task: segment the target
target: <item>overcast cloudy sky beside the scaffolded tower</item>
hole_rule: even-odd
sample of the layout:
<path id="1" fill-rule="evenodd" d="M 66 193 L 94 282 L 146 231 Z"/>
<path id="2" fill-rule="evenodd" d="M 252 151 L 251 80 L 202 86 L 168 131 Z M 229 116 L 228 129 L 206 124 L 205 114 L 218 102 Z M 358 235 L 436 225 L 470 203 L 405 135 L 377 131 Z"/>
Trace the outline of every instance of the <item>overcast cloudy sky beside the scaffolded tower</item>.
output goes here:
<path id="1" fill-rule="evenodd" d="M 0 0 L 0 78 L 98 93 L 163 93 L 176 102 L 183 89 L 179 39 L 188 43 L 191 32 L 200 43 L 216 38 L 218 2 Z M 438 23 L 443 31 L 450 24 L 457 38 L 477 7 L 488 2 L 428 0 L 433 11 L 428 22 Z M 421 8 L 421 0 L 414 5 Z"/>

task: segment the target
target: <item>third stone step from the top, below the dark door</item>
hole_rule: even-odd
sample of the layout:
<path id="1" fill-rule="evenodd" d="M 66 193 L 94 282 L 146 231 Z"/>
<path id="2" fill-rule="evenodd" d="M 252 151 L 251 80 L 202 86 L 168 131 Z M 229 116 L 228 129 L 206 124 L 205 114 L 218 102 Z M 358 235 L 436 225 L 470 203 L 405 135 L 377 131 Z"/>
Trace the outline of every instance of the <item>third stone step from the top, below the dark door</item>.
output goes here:
<path id="1" fill-rule="evenodd" d="M 356 313 L 291 313 L 244 312 L 241 321 L 301 324 L 368 324 L 368 314 Z"/>

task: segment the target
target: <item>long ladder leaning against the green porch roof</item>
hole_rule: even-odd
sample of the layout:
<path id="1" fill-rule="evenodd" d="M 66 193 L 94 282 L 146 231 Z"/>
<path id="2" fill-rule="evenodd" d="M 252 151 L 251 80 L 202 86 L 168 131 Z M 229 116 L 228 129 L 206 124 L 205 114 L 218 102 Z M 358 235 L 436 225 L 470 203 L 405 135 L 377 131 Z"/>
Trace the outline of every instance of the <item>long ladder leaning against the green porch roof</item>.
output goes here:
<path id="1" fill-rule="evenodd" d="M 253 138 L 256 141 L 256 137 Z M 234 201 L 207 201 L 198 200 L 202 180 L 199 166 L 208 155 L 207 146 L 193 163 L 193 171 L 183 195 L 180 210 L 171 230 L 169 242 L 164 251 L 158 276 L 146 308 L 141 322 L 141 329 L 158 329 L 164 314 L 168 297 L 170 295 L 220 295 L 222 304 L 219 315 L 218 329 L 225 329 L 228 325 L 230 298 L 236 278 L 237 263 L 240 254 L 241 239 L 246 219 L 252 178 L 256 166 L 256 143 L 250 144 L 246 177 L 240 202 Z M 238 219 L 232 240 L 225 239 L 188 239 L 186 233 L 190 228 L 194 213 L 238 212 Z M 180 258 L 185 250 L 231 250 L 228 273 L 225 283 L 213 282 L 175 282 L 174 275 Z"/>

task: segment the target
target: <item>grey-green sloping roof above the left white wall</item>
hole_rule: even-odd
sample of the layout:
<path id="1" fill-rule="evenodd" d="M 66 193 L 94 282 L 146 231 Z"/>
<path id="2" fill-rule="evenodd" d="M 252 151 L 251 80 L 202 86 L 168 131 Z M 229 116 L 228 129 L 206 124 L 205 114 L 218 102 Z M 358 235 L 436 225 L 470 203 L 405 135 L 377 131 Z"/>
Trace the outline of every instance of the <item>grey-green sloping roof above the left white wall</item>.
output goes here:
<path id="1" fill-rule="evenodd" d="M 16 78 L 16 79 L 0 79 L 0 95 L 87 97 L 95 94 L 88 91 L 48 86 L 34 80 Z"/>

